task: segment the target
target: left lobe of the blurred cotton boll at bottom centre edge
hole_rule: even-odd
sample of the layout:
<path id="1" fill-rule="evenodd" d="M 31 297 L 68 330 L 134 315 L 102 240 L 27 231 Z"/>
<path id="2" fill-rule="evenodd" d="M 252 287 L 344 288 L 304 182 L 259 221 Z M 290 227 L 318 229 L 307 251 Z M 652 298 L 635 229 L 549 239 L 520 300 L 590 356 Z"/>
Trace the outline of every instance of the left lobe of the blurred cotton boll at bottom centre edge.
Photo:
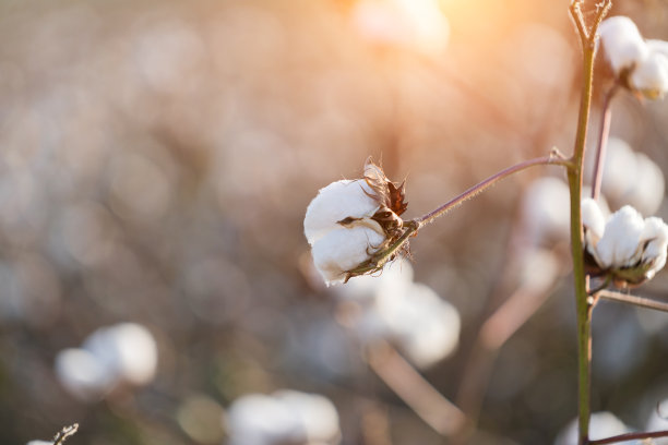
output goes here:
<path id="1" fill-rule="evenodd" d="M 278 399 L 261 394 L 249 394 L 235 400 L 224 422 L 230 445 L 301 443 L 306 436 L 300 419 L 293 410 Z"/>

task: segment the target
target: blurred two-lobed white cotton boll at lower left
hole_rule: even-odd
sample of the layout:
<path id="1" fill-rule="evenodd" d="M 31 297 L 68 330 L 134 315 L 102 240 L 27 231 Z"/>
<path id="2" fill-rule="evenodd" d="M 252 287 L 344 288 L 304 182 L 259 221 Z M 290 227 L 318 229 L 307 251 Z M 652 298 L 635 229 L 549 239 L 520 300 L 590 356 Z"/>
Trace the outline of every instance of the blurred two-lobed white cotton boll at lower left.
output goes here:
<path id="1" fill-rule="evenodd" d="M 82 401 L 99 400 L 120 384 L 145 385 L 156 368 L 155 339 L 134 323 L 99 328 L 82 348 L 69 348 L 56 357 L 59 381 Z"/>

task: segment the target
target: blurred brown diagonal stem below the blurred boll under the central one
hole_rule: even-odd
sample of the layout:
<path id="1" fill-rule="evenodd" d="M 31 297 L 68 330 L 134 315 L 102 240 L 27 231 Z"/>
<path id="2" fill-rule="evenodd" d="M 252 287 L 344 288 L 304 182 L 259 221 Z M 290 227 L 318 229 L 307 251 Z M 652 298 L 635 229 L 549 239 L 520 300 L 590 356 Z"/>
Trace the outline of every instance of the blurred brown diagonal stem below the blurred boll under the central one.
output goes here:
<path id="1" fill-rule="evenodd" d="M 439 434 L 450 436 L 466 421 L 464 413 L 389 344 L 370 348 L 368 362 L 373 372 Z"/>

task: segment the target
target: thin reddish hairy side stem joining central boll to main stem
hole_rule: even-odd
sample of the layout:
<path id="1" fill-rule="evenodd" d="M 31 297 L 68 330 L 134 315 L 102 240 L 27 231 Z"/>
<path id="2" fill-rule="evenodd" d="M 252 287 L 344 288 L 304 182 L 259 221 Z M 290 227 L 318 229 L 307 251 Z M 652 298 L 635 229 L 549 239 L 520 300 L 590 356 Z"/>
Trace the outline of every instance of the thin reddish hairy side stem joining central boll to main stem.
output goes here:
<path id="1" fill-rule="evenodd" d="M 477 183 L 476 185 L 466 190 L 464 193 L 455 196 L 454 199 L 441 205 L 440 207 L 436 208 L 434 211 L 428 213 L 427 215 L 421 216 L 420 218 L 415 219 L 415 221 L 418 222 L 419 227 L 426 226 L 429 222 L 433 221 L 439 216 L 445 215 L 448 212 L 457 207 L 465 201 L 470 200 L 477 194 L 494 185 L 497 182 L 501 181 L 502 179 L 508 178 L 509 176 L 513 173 L 516 173 L 517 171 L 525 170 L 529 167 L 550 166 L 550 165 L 571 167 L 571 161 L 562 158 L 557 152 L 553 152 L 549 156 L 534 158 L 534 159 L 529 159 L 529 160 L 525 160 L 523 163 L 516 164 L 512 167 L 509 167 L 504 170 L 499 171 L 496 175 L 492 175 L 491 177 L 487 178 L 482 182 Z"/>

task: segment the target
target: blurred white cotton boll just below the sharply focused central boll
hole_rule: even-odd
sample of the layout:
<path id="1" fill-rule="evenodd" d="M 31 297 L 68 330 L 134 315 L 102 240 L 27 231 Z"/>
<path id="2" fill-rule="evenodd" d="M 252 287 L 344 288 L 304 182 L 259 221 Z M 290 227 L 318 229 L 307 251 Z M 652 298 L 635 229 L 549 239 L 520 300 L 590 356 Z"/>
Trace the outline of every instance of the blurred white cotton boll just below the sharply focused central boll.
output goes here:
<path id="1" fill-rule="evenodd" d="M 414 284 L 403 298 L 381 297 L 378 311 L 399 349 L 420 368 L 444 359 L 457 347 L 460 314 L 428 286 Z"/>

